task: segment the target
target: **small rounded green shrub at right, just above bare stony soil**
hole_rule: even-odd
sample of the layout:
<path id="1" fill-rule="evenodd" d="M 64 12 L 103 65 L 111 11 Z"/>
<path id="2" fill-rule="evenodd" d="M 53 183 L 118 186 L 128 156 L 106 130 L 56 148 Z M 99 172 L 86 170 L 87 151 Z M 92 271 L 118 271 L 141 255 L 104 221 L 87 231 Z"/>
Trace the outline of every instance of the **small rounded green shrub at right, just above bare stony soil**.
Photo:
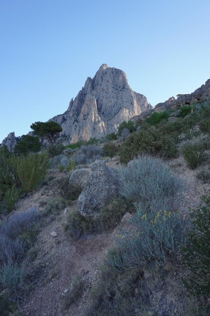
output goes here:
<path id="1" fill-rule="evenodd" d="M 184 161 L 190 169 L 195 169 L 204 161 L 205 147 L 202 143 L 186 141 L 181 147 Z"/>

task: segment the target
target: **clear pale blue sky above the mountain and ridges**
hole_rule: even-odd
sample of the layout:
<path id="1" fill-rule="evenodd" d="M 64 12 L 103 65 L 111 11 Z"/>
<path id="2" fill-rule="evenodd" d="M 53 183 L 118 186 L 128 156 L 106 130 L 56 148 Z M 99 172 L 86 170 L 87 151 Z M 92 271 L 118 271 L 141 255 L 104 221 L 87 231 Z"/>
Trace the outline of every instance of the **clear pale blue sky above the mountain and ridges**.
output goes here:
<path id="1" fill-rule="evenodd" d="M 1 0 L 0 143 L 68 108 L 102 64 L 155 106 L 210 78 L 209 0 Z"/>

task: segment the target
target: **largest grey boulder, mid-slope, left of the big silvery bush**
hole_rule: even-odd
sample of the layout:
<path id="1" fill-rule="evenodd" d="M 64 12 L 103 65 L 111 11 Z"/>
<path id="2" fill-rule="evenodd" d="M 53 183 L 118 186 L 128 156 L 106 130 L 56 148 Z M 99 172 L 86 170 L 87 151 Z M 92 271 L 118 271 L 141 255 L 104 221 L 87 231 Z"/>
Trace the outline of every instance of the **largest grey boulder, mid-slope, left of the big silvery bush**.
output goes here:
<path id="1" fill-rule="evenodd" d="M 78 199 L 78 213 L 85 218 L 97 217 L 101 208 L 120 196 L 121 178 L 116 170 L 101 161 L 91 165 L 92 173 Z"/>

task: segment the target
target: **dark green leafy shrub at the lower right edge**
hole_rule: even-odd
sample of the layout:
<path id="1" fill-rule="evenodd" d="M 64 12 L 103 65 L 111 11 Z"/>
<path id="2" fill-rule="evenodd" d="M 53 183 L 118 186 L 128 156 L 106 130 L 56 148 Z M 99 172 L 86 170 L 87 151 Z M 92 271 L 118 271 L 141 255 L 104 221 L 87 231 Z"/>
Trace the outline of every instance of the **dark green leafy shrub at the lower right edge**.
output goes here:
<path id="1" fill-rule="evenodd" d="M 182 248 L 189 274 L 183 281 L 190 292 L 205 296 L 210 293 L 210 195 L 202 196 L 199 207 L 191 210 L 190 223 Z"/>

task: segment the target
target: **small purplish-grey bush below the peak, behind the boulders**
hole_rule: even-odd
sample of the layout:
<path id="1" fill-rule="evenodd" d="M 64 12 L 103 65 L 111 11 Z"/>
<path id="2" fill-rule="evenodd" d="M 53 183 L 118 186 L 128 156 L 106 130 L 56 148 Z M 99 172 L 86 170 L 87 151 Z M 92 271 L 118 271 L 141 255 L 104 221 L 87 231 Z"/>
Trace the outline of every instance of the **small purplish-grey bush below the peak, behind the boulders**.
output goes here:
<path id="1" fill-rule="evenodd" d="M 103 153 L 103 149 L 96 145 L 82 145 L 80 153 L 75 156 L 77 165 L 90 164 L 99 159 Z"/>

